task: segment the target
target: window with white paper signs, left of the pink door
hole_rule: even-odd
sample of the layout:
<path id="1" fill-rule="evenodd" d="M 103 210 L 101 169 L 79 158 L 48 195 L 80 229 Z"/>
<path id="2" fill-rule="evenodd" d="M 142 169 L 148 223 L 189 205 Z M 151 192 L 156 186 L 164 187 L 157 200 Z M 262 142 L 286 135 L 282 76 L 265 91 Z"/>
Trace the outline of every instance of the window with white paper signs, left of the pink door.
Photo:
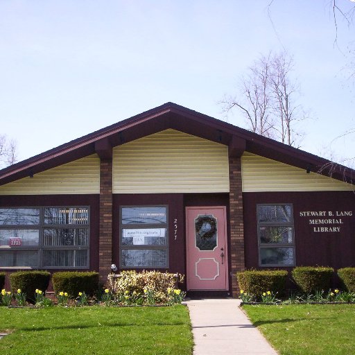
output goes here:
<path id="1" fill-rule="evenodd" d="M 121 268 L 168 267 L 168 207 L 121 207 Z"/>

